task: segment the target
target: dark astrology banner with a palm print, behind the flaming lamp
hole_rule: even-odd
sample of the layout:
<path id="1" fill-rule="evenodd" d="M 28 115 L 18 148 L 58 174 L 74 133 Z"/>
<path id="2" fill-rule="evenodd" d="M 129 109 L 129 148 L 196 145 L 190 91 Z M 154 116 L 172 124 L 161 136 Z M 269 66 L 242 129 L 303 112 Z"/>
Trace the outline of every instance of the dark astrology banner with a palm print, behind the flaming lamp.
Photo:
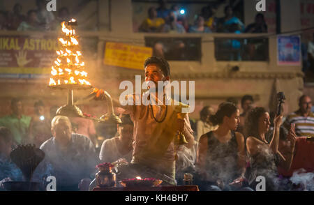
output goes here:
<path id="1" fill-rule="evenodd" d="M 57 38 L 0 36 L 0 77 L 45 77 L 57 49 Z"/>

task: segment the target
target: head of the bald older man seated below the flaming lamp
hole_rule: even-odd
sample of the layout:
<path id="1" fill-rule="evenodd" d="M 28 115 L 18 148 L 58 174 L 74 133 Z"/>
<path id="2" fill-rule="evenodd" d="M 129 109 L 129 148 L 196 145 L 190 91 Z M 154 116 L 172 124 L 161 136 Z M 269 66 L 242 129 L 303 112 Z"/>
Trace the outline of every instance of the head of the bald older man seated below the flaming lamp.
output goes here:
<path id="1" fill-rule="evenodd" d="M 62 146 L 66 146 L 70 142 L 72 134 L 72 128 L 69 121 L 59 120 L 52 129 L 52 135 Z"/>

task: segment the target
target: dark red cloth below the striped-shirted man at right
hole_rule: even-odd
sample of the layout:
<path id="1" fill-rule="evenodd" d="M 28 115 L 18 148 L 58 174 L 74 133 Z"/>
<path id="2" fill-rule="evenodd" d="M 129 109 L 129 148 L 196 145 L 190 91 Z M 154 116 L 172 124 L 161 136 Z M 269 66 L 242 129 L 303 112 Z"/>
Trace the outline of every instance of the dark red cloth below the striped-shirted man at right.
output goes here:
<path id="1" fill-rule="evenodd" d="M 278 173 L 283 176 L 292 176 L 297 169 L 305 169 L 306 172 L 314 172 L 314 142 L 306 140 L 306 137 L 297 137 L 296 153 L 289 171 L 278 168 Z"/>

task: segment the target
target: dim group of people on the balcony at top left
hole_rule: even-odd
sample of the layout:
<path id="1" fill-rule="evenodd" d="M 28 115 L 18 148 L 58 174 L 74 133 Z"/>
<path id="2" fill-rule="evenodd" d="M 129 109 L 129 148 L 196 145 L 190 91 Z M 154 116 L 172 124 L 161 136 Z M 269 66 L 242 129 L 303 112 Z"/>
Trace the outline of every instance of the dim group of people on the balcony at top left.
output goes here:
<path id="1" fill-rule="evenodd" d="M 36 8 L 22 13 L 22 5 L 16 3 L 13 10 L 0 10 L 0 30 L 8 31 L 52 31 L 60 23 L 70 19 L 68 8 L 57 11 L 57 16 L 46 8 L 45 0 L 36 0 Z"/>

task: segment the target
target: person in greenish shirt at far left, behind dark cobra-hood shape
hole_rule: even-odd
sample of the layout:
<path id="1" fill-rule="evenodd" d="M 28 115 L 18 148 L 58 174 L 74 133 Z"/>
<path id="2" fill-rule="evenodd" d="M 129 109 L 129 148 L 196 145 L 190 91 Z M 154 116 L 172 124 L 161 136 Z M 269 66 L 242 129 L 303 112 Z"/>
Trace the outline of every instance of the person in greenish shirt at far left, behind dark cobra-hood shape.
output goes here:
<path id="1" fill-rule="evenodd" d="M 11 101 L 12 114 L 4 116 L 0 119 L 0 126 L 8 128 L 12 134 L 14 142 L 22 144 L 27 142 L 29 133 L 29 124 L 31 117 L 22 114 L 22 100 L 20 98 L 13 98 Z"/>

